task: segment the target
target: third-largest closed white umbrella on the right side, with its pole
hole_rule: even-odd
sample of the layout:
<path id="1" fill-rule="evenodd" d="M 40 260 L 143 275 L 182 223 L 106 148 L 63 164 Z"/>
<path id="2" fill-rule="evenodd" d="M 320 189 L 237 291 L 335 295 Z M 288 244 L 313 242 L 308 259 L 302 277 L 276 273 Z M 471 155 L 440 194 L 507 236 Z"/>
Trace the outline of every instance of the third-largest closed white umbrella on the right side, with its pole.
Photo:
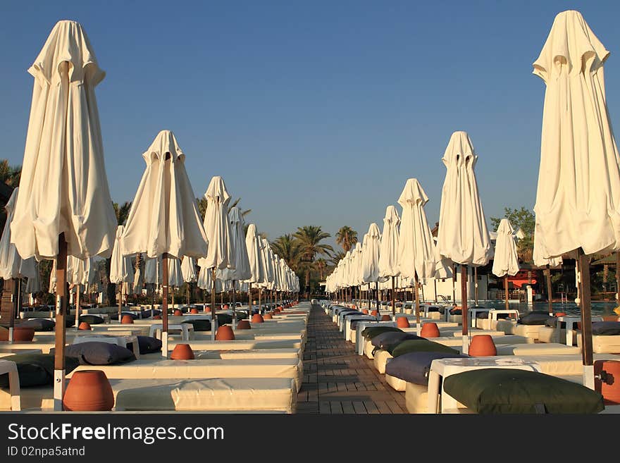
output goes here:
<path id="1" fill-rule="evenodd" d="M 402 206 L 399 230 L 399 270 L 401 276 L 412 280 L 416 303 L 416 323 L 420 331 L 420 300 L 418 283 L 426 284 L 435 278 L 441 263 L 430 233 L 424 205 L 428 196 L 416 178 L 409 178 L 400 194 L 398 204 Z"/>

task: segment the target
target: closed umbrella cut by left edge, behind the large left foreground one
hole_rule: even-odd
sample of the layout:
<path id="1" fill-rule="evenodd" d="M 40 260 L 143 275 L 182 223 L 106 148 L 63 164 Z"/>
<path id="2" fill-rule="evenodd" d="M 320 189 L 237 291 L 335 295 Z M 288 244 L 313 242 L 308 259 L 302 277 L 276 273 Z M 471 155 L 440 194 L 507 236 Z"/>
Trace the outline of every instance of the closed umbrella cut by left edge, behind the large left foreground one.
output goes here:
<path id="1" fill-rule="evenodd" d="M 15 205 L 17 202 L 19 188 L 11 193 L 4 209 L 6 210 L 6 223 L 0 238 L 0 278 L 13 280 L 13 304 L 8 312 L 8 342 L 13 342 L 13 327 L 15 326 L 15 316 L 20 311 L 21 285 L 22 278 L 30 281 L 38 276 L 38 266 L 35 266 L 35 258 L 22 259 L 17 252 L 15 245 L 11 242 L 11 221 L 15 216 Z"/>

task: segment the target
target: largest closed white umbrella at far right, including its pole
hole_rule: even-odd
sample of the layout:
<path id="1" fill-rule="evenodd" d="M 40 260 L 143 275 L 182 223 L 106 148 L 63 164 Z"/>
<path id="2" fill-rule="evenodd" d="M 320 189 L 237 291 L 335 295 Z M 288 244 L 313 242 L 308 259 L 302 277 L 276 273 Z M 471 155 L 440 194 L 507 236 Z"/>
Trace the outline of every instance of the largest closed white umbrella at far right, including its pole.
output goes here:
<path id="1" fill-rule="evenodd" d="M 584 385 L 594 388 L 590 254 L 620 249 L 619 154 L 605 101 L 609 51 L 581 13 L 553 22 L 533 73 L 546 85 L 535 249 L 543 259 L 576 251 L 581 278 Z"/>

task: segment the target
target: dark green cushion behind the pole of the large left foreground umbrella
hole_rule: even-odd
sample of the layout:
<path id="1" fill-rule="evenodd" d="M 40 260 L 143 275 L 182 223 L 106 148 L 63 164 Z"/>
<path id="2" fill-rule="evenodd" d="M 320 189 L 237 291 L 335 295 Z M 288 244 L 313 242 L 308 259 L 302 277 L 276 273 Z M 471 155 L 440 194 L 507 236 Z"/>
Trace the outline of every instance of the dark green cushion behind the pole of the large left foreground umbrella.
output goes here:
<path id="1" fill-rule="evenodd" d="M 54 354 L 15 354 L 2 357 L 17 364 L 20 388 L 54 384 Z M 65 357 L 65 373 L 80 364 L 75 357 Z M 0 388 L 8 388 L 8 373 L 0 375 Z"/>

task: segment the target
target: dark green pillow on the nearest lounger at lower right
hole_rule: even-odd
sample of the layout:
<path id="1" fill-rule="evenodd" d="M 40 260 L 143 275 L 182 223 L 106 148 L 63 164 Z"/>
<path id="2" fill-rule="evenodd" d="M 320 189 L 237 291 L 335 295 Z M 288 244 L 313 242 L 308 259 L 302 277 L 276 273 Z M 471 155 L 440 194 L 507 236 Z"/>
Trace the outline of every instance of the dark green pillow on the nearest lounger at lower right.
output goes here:
<path id="1" fill-rule="evenodd" d="M 488 368 L 445 378 L 443 388 L 467 408 L 481 414 L 598 413 L 600 393 L 538 371 Z M 543 409 L 544 407 L 544 409 Z"/>

